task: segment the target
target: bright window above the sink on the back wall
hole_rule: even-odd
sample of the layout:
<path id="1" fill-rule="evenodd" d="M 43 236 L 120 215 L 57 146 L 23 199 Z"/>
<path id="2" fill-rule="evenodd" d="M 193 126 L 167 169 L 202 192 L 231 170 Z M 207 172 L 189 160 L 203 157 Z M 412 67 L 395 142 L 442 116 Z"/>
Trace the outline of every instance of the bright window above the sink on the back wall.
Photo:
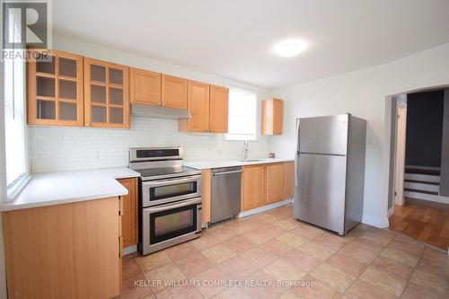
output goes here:
<path id="1" fill-rule="evenodd" d="M 242 88 L 229 88 L 227 140 L 256 140 L 257 94 Z"/>

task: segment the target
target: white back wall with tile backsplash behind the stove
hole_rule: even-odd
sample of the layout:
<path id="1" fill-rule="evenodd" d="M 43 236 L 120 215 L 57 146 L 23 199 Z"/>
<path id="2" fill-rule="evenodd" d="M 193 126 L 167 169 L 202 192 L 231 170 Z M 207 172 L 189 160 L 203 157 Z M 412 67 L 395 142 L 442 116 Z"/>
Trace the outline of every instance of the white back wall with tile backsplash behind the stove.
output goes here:
<path id="1" fill-rule="evenodd" d="M 260 101 L 269 91 L 255 86 L 211 75 L 163 61 L 105 48 L 81 40 L 55 36 L 53 48 L 85 57 L 136 66 L 169 75 L 217 85 L 234 85 L 257 90 L 258 132 L 260 133 Z M 186 160 L 240 159 L 241 141 L 226 141 L 223 134 L 178 132 L 178 121 L 131 116 L 130 129 L 31 127 L 31 171 L 65 171 L 128 165 L 128 148 L 132 146 L 185 147 Z M 251 157 L 268 156 L 269 136 L 258 136 L 250 142 Z"/>

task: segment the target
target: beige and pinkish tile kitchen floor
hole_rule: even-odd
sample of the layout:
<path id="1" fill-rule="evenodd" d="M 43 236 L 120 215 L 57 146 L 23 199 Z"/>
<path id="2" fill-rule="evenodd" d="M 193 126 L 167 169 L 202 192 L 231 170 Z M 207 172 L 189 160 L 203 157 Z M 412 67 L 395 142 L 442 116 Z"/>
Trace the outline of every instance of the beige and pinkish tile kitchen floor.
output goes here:
<path id="1" fill-rule="evenodd" d="M 123 278 L 119 298 L 449 298 L 446 252 L 365 224 L 340 237 L 296 221 L 291 206 L 217 224 L 199 239 L 145 257 L 124 257 Z"/>

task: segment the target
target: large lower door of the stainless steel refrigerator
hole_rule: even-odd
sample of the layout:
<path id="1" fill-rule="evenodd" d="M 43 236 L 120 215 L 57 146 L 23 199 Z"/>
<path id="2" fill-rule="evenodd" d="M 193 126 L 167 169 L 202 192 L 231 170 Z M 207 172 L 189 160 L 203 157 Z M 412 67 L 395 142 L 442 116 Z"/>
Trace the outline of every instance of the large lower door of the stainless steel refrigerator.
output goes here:
<path id="1" fill-rule="evenodd" d="M 346 156 L 299 155 L 296 219 L 344 234 Z"/>

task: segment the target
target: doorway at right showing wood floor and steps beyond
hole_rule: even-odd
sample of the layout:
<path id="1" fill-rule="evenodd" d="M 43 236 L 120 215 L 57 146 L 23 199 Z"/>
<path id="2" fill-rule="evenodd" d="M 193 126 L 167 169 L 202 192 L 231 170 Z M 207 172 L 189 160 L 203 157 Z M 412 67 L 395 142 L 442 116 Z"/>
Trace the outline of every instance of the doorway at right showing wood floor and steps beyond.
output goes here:
<path id="1" fill-rule="evenodd" d="M 389 228 L 449 248 L 449 89 L 392 98 Z"/>

